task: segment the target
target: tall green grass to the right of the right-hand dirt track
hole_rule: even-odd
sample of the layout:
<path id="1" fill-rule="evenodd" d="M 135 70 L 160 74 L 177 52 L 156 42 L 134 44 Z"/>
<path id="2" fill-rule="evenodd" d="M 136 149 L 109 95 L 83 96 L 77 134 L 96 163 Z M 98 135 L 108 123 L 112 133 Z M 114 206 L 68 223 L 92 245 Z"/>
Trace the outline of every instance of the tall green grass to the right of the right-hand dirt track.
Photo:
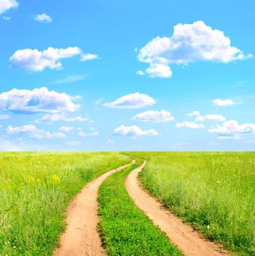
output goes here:
<path id="1" fill-rule="evenodd" d="M 172 212 L 240 255 L 255 255 L 254 152 L 143 155 L 142 183 Z"/>

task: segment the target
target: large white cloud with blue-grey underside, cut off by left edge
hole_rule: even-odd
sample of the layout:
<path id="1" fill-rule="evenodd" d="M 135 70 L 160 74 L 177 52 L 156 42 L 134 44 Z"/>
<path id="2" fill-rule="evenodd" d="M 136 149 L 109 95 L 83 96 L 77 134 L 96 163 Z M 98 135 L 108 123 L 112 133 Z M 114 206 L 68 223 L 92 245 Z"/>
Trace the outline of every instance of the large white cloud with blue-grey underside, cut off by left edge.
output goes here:
<path id="1" fill-rule="evenodd" d="M 80 108 L 69 96 L 57 91 L 49 91 L 46 87 L 34 90 L 12 89 L 0 94 L 0 109 L 14 113 L 58 113 L 74 112 Z"/>

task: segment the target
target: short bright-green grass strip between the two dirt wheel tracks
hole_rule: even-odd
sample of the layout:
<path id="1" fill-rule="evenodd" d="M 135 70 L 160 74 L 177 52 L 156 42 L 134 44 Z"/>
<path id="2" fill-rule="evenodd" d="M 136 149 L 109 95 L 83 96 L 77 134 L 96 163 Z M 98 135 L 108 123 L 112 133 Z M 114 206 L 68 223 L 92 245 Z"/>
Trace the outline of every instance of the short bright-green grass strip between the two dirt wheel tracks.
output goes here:
<path id="1" fill-rule="evenodd" d="M 99 189 L 99 231 L 107 255 L 181 255 L 126 192 L 124 179 L 140 164 L 110 176 Z"/>

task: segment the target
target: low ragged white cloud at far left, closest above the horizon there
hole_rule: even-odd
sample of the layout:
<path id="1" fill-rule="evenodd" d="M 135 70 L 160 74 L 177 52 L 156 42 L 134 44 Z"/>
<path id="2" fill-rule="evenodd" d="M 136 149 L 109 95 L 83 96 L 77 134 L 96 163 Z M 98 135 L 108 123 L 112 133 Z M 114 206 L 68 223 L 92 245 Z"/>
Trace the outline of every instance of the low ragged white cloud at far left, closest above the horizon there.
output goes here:
<path id="1" fill-rule="evenodd" d="M 37 129 L 34 124 L 27 124 L 20 127 L 8 126 L 6 132 L 8 135 L 27 134 L 29 138 L 37 140 L 66 138 L 66 135 L 64 135 L 62 132 L 50 133 L 43 129 Z"/>

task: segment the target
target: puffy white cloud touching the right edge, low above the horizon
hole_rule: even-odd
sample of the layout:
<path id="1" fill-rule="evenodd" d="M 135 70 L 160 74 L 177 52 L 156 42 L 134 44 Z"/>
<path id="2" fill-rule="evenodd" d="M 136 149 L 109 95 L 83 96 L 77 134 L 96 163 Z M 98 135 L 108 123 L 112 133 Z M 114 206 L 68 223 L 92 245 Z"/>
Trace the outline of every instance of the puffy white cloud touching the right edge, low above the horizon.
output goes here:
<path id="1" fill-rule="evenodd" d="M 243 134 L 255 133 L 255 124 L 238 124 L 235 120 L 229 120 L 210 128 L 208 132 L 218 135 L 219 140 L 238 140 Z"/>

